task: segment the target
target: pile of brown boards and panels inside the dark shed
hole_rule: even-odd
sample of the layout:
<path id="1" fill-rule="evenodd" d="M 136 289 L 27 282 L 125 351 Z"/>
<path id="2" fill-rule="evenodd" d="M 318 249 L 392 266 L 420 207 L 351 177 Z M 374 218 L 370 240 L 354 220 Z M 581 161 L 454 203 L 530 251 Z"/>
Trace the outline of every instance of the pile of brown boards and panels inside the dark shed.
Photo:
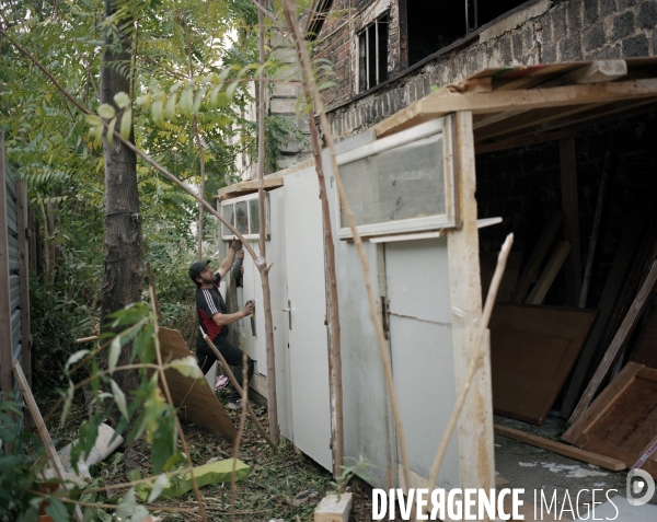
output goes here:
<path id="1" fill-rule="evenodd" d="M 646 456 L 657 448 L 657 216 L 650 202 L 632 209 L 599 302 L 585 308 L 614 165 L 608 154 L 578 306 L 542 305 L 562 266 L 567 269 L 570 243 L 557 240 L 562 212 L 523 271 L 509 275 L 508 302 L 497 304 L 491 320 L 493 403 L 497 414 L 538 426 L 557 414 L 570 424 L 564 441 L 630 467 L 643 456 L 642 468 L 657 478 L 657 451 Z"/>

